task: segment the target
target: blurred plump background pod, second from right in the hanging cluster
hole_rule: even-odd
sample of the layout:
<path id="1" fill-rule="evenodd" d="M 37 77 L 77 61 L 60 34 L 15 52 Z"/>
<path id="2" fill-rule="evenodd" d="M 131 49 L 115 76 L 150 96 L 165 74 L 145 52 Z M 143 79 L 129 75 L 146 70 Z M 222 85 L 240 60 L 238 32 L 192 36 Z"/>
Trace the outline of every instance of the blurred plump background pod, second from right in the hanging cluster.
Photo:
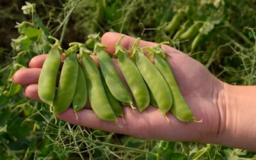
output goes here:
<path id="1" fill-rule="evenodd" d="M 200 26 L 202 26 L 202 22 L 199 22 L 199 21 L 194 22 L 194 24 L 192 24 L 192 26 L 190 26 L 187 31 L 182 33 L 182 35 L 180 35 L 179 38 L 181 40 L 188 40 L 188 39 L 191 40 L 198 33 Z"/>

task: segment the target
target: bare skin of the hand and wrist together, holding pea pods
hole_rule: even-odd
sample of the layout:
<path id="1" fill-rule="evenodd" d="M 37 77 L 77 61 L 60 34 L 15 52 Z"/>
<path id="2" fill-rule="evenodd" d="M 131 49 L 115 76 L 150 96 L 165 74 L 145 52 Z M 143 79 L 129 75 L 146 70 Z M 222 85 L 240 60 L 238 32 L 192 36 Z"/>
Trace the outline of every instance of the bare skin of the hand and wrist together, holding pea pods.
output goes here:
<path id="1" fill-rule="evenodd" d="M 120 36 L 119 33 L 111 32 L 102 36 L 101 42 L 108 47 L 106 51 L 109 54 L 115 53 L 115 43 Z M 134 40 L 131 36 L 124 36 L 120 44 L 129 50 Z M 153 42 L 140 41 L 140 47 L 156 45 Z M 256 150 L 256 144 L 253 143 L 253 138 L 256 137 L 256 87 L 224 83 L 188 55 L 168 45 L 162 45 L 162 48 L 170 56 L 168 61 L 180 91 L 198 122 L 180 122 L 172 113 L 166 115 L 168 122 L 163 113 L 152 106 L 142 113 L 125 106 L 124 120 L 118 117 L 118 122 L 100 120 L 91 108 L 78 111 L 78 118 L 72 108 L 57 117 L 71 124 L 143 139 L 198 141 Z M 13 76 L 15 83 L 26 85 L 24 95 L 29 99 L 40 101 L 37 83 L 46 56 L 47 54 L 35 56 L 29 63 L 30 68 L 18 70 Z M 93 60 L 97 63 L 95 56 Z M 113 62 L 124 81 L 117 61 Z"/>

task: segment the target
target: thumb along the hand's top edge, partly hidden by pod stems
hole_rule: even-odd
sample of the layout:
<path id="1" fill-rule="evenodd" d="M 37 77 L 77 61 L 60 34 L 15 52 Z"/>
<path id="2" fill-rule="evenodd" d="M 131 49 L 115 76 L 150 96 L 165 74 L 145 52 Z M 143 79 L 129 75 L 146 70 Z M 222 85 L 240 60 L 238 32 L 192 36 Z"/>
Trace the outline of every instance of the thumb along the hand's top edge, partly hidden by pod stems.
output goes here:
<path id="1" fill-rule="evenodd" d="M 115 44 L 117 40 L 122 36 L 120 33 L 114 33 L 114 32 L 107 32 L 105 33 L 101 38 L 101 43 L 103 45 L 106 45 L 108 49 L 106 49 L 107 52 L 110 54 L 115 53 Z M 132 36 L 124 35 L 124 38 L 121 40 L 120 45 L 122 45 L 125 49 L 129 50 L 131 49 L 132 43 L 136 40 L 136 38 Z M 157 44 L 154 42 L 147 42 L 145 40 L 141 40 L 139 46 L 140 47 L 146 47 L 146 46 L 156 46 Z"/>

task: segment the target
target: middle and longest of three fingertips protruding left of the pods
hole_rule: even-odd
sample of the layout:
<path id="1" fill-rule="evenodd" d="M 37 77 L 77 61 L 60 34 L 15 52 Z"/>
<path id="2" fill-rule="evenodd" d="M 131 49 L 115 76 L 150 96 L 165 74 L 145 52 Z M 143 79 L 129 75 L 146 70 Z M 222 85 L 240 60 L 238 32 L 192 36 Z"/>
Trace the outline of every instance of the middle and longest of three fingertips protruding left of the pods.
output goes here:
<path id="1" fill-rule="evenodd" d="M 40 76 L 40 68 L 25 68 L 20 69 L 13 75 L 13 82 L 22 85 L 38 83 Z"/>

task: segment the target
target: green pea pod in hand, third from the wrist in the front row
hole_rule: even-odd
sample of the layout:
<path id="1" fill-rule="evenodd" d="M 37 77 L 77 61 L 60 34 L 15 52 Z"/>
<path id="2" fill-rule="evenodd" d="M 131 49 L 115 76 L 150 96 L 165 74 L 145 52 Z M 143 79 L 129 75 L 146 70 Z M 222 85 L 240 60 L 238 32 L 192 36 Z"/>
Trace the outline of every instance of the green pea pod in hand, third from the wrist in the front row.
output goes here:
<path id="1" fill-rule="evenodd" d="M 141 77 L 140 71 L 134 62 L 129 58 L 129 56 L 127 56 L 127 51 L 125 51 L 118 42 L 116 43 L 115 49 L 115 56 L 117 56 L 120 70 L 131 89 L 138 110 L 142 112 L 150 103 L 147 85 L 145 84 L 143 77 Z"/>

